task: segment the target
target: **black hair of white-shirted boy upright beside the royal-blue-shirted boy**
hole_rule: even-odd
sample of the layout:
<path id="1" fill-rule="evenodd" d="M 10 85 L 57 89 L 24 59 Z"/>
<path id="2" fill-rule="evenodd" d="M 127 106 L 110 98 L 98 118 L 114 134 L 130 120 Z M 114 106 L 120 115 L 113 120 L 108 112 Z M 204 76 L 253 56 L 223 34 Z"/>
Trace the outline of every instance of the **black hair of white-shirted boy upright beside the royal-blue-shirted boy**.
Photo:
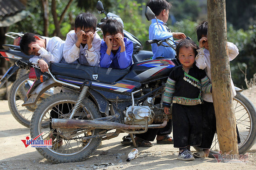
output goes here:
<path id="1" fill-rule="evenodd" d="M 75 19 L 75 28 L 93 28 L 96 30 L 97 18 L 91 13 L 81 13 Z"/>

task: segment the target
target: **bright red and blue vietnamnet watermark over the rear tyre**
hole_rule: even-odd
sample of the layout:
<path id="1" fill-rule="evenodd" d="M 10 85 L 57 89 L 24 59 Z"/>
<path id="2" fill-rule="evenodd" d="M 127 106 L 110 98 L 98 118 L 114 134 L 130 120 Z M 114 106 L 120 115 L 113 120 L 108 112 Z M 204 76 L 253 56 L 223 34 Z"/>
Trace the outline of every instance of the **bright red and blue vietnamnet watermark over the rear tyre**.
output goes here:
<path id="1" fill-rule="evenodd" d="M 24 143 L 25 147 L 28 147 L 29 145 L 31 145 L 31 147 L 52 147 L 52 139 L 38 139 L 43 133 L 36 136 L 34 139 L 29 139 L 29 136 L 26 136 L 26 140 L 21 141 Z"/>

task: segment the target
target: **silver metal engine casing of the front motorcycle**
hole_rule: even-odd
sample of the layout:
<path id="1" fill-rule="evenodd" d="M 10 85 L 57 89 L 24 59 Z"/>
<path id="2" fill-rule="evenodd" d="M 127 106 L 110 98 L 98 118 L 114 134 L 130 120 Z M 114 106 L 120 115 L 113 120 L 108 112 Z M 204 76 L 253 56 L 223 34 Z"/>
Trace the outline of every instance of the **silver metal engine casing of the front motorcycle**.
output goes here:
<path id="1" fill-rule="evenodd" d="M 124 111 L 124 114 L 124 122 L 127 125 L 145 125 L 145 116 L 148 116 L 148 125 L 150 125 L 154 120 L 149 106 L 134 106 L 133 111 L 132 106 L 129 106 L 126 111 Z"/>

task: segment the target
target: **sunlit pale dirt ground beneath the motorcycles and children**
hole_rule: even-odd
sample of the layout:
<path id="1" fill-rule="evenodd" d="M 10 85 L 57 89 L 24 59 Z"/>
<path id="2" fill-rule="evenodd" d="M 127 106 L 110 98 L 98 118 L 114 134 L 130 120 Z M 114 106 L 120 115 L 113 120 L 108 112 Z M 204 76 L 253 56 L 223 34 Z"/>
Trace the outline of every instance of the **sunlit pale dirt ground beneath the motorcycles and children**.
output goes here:
<path id="1" fill-rule="evenodd" d="M 256 88 L 243 91 L 256 105 Z M 195 161 L 177 160 L 177 149 L 172 144 L 157 144 L 145 148 L 138 147 L 138 156 L 126 162 L 132 146 L 120 144 L 122 136 L 102 142 L 87 160 L 76 163 L 53 164 L 44 159 L 35 148 L 25 148 L 20 140 L 30 137 L 29 129 L 20 125 L 9 111 L 8 101 L 0 101 L 0 170 L 205 170 L 205 169 L 254 169 L 256 166 L 256 144 L 248 152 L 247 163 L 218 163 L 216 159 L 205 158 Z M 195 150 L 192 150 L 195 151 Z"/>

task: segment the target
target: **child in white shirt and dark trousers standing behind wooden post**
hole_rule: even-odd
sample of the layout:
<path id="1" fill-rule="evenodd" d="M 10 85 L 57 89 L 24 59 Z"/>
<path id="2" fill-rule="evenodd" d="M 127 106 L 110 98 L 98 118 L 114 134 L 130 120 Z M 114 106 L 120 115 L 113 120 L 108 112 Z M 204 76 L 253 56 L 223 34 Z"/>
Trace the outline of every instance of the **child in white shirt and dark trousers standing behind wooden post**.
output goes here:
<path id="1" fill-rule="evenodd" d="M 197 37 L 199 41 L 199 49 L 198 55 L 195 57 L 196 66 L 200 69 L 204 69 L 206 72 L 207 77 L 212 81 L 211 77 L 211 63 L 210 63 L 210 53 L 209 53 L 209 45 L 207 40 L 207 30 L 208 30 L 208 23 L 207 21 L 203 21 L 200 23 L 197 28 Z M 235 44 L 232 42 L 227 42 L 228 48 L 228 57 L 229 60 L 233 60 L 239 54 L 239 50 Z M 231 79 L 231 87 L 232 87 L 232 96 L 236 96 L 235 86 Z M 209 156 L 209 149 L 212 145 L 212 140 L 214 138 L 216 132 L 216 118 L 215 118 L 215 111 L 213 107 L 212 101 L 212 94 L 205 94 L 203 92 L 203 101 L 204 104 L 202 105 L 202 125 L 203 125 L 203 134 L 202 134 L 202 142 L 201 147 L 203 151 L 198 153 L 193 153 L 195 157 L 207 157 Z M 238 143 L 240 143 L 240 137 L 237 131 Z"/>

